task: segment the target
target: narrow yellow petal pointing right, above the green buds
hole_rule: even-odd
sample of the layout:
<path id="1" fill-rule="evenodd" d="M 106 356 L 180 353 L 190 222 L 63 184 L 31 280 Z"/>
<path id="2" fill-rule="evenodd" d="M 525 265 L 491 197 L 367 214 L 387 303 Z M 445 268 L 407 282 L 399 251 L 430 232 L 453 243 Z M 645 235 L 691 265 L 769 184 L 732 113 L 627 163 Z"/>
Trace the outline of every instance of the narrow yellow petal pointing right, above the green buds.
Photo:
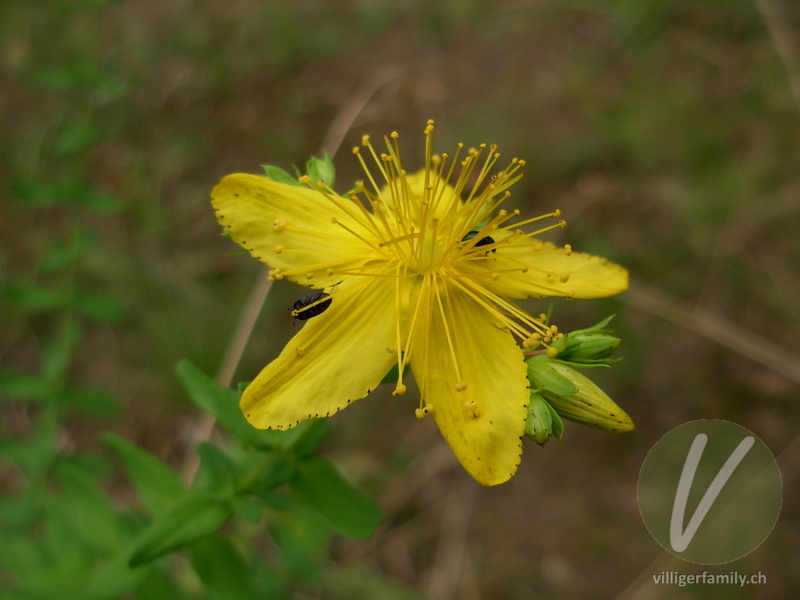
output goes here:
<path id="1" fill-rule="evenodd" d="M 507 298 L 603 298 L 628 288 L 628 271 L 605 258 L 530 240 L 512 240 L 467 268 L 494 273 L 485 287 Z"/>

